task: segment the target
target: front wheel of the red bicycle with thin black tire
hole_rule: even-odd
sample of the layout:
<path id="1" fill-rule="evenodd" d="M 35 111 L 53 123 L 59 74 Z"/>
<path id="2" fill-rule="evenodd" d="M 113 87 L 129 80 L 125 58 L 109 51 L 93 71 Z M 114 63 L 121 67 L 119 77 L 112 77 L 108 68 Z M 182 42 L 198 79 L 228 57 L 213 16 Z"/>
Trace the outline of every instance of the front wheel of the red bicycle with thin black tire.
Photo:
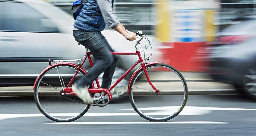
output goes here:
<path id="1" fill-rule="evenodd" d="M 151 80 L 152 84 L 155 87 L 159 86 L 159 87 L 163 87 L 164 88 L 168 84 L 175 85 L 175 87 L 176 87 L 177 84 L 178 84 L 179 88 L 181 88 L 181 86 L 183 86 L 183 89 L 184 89 L 183 91 L 184 92 L 182 92 L 182 90 L 181 91 L 178 90 L 176 92 L 172 92 L 172 90 L 167 92 L 169 89 L 167 91 L 166 90 L 159 90 L 160 91 L 160 95 L 164 93 L 165 96 L 163 95 L 162 97 L 158 97 L 158 95 L 156 94 L 155 91 L 154 91 L 154 94 L 152 94 L 150 92 L 145 92 L 145 90 L 135 90 L 135 89 L 138 89 L 138 88 L 139 89 L 145 89 L 145 88 L 135 87 L 136 85 L 137 86 L 144 86 L 144 87 L 147 85 L 147 90 L 149 90 L 149 88 L 151 87 L 149 84 L 147 84 L 148 81 L 146 80 L 146 77 L 144 77 L 144 78 L 142 77 L 142 76 L 145 76 L 145 74 L 140 76 L 142 73 L 144 73 L 143 69 L 141 69 L 140 71 L 138 71 L 135 74 L 135 76 L 133 77 L 133 79 L 131 79 L 131 82 L 129 84 L 129 86 L 130 86 L 129 99 L 130 99 L 131 105 L 132 105 L 133 109 L 141 117 L 143 117 L 143 118 L 145 118 L 147 120 L 150 120 L 150 121 L 167 121 L 167 120 L 170 120 L 170 119 L 174 118 L 175 116 L 177 116 L 182 111 L 184 106 L 186 105 L 187 98 L 188 98 L 188 88 L 187 88 L 186 81 L 185 81 L 184 77 L 182 76 L 182 74 L 178 70 L 176 70 L 175 68 L 173 68 L 170 65 L 163 64 L 163 63 L 157 63 L 157 64 L 148 65 L 148 67 L 149 67 L 149 70 L 147 70 L 148 73 L 149 73 L 150 69 L 153 69 L 152 70 L 153 72 L 151 74 L 149 73 L 149 77 L 150 77 L 150 80 Z M 164 69 L 164 68 L 166 68 L 167 70 Z M 169 69 L 169 71 L 168 71 L 168 69 Z M 164 71 L 164 70 L 166 70 L 166 71 Z M 161 76 L 154 76 L 157 73 L 160 73 Z M 176 74 L 177 77 L 175 77 L 175 78 L 174 77 L 170 77 L 170 78 L 173 78 L 173 79 L 170 79 L 170 81 L 169 81 L 169 78 L 168 78 L 169 77 L 169 73 L 171 73 L 172 75 Z M 153 77 L 153 78 L 151 79 L 151 77 Z M 168 78 L 168 81 L 167 81 L 167 79 L 164 79 L 164 78 Z M 175 81 L 174 81 L 174 79 L 175 79 Z M 178 83 L 176 81 L 177 79 L 180 79 L 180 81 L 182 82 L 182 85 L 181 85 L 181 83 Z M 136 84 L 135 84 L 135 82 L 136 82 Z M 145 84 L 144 82 L 145 83 L 147 82 L 147 83 Z M 162 84 L 161 82 L 164 82 L 165 86 L 161 86 L 161 84 Z M 158 89 L 158 87 L 156 87 L 156 88 Z M 151 89 L 153 89 L 153 88 L 151 87 Z M 143 91 L 144 91 L 144 93 L 143 93 Z M 147 93 L 149 95 L 146 95 Z M 181 102 L 179 107 L 177 107 L 177 106 L 152 107 L 153 105 L 155 105 L 155 102 L 157 102 L 159 100 L 161 100 L 159 105 L 163 106 L 163 104 L 165 104 L 163 102 L 166 99 L 165 97 L 169 96 L 168 93 L 170 93 L 169 95 L 172 97 L 172 100 L 176 100 L 178 98 L 179 98 L 179 100 L 182 100 L 182 102 Z M 176 95 L 178 95 L 178 94 L 183 94 L 184 96 L 177 97 Z M 136 97 L 138 97 L 138 98 L 136 98 Z M 148 97 L 150 97 L 150 98 L 148 99 Z M 162 99 L 159 99 L 159 98 L 162 98 Z M 166 99 L 166 100 L 169 100 L 169 99 Z M 152 104 L 148 104 L 150 102 L 152 102 Z M 175 102 L 170 102 L 170 103 L 167 102 L 166 104 L 174 104 L 174 103 Z M 146 106 L 147 104 L 149 106 Z M 175 110 L 174 111 L 170 111 L 170 109 L 173 109 L 173 107 L 176 107 L 177 110 L 176 111 Z M 159 111 L 156 111 L 157 109 Z M 170 115 L 167 112 L 161 113 L 162 111 L 168 111 L 168 110 L 170 111 L 169 112 Z M 154 111 L 154 112 L 145 113 L 143 111 L 147 111 L 147 112 L 148 111 Z M 146 115 L 146 114 L 148 114 L 148 115 Z M 161 114 L 168 114 L 168 116 L 162 117 Z"/>

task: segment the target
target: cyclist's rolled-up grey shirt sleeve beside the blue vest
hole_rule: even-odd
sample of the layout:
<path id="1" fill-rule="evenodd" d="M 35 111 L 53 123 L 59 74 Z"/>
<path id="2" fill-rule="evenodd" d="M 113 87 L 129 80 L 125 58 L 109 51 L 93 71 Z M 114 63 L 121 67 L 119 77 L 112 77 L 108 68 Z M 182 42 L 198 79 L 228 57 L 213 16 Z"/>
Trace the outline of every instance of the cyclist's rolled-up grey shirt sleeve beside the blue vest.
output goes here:
<path id="1" fill-rule="evenodd" d="M 115 28 L 120 23 L 113 12 L 112 0 L 97 0 L 102 17 L 110 28 Z"/>

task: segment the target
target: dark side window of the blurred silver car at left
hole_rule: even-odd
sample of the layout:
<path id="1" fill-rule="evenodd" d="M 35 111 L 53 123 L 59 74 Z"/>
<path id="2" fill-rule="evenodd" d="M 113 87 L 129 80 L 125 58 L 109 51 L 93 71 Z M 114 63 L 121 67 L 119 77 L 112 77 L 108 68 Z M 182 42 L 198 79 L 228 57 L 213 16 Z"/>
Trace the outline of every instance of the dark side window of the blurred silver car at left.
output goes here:
<path id="1" fill-rule="evenodd" d="M 58 33 L 57 27 L 32 7 L 0 1 L 0 31 Z"/>

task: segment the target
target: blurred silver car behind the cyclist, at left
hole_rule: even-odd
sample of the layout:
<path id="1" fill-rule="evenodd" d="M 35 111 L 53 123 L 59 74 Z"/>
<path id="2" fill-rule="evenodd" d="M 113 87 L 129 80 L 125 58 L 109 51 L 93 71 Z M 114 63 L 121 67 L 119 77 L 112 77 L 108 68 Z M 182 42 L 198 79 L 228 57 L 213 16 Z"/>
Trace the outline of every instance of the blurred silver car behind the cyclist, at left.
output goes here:
<path id="1" fill-rule="evenodd" d="M 84 46 L 78 46 L 73 37 L 74 19 L 61 9 L 40 0 L 0 0 L 0 5 L 0 86 L 33 85 L 48 59 L 81 59 L 85 55 Z M 118 32 L 104 30 L 102 34 L 116 52 L 135 52 L 134 43 Z M 150 61 L 156 61 L 161 57 L 157 49 L 161 45 L 153 36 L 149 39 L 154 53 Z M 150 54 L 149 49 L 145 56 Z M 137 60 L 136 55 L 120 55 L 117 67 L 127 70 Z M 88 61 L 83 68 L 90 68 Z"/>

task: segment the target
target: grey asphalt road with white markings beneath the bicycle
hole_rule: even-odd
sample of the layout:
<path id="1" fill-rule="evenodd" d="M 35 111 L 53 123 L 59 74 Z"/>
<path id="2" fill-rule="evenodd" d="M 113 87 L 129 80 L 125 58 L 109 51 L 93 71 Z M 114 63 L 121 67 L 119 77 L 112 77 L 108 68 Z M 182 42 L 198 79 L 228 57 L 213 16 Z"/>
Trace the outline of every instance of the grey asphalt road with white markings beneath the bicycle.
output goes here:
<path id="1" fill-rule="evenodd" d="M 140 116 L 112 115 L 132 108 L 125 96 L 112 100 L 105 107 L 91 106 L 87 112 L 90 114 L 71 123 L 57 123 L 44 117 L 31 97 L 0 99 L 1 136 L 256 135 L 255 101 L 240 95 L 189 95 L 180 115 L 157 124 Z M 104 113 L 111 114 L 103 116 Z"/>

